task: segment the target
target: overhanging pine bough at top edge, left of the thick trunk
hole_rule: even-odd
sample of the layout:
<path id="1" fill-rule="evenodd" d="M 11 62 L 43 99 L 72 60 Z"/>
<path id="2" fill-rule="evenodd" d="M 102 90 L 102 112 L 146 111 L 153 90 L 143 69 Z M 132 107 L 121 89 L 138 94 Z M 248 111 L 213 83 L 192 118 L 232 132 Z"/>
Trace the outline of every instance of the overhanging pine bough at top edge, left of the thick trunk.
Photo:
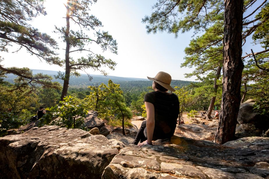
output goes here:
<path id="1" fill-rule="evenodd" d="M 158 0 L 152 9 L 152 14 L 142 19 L 147 23 L 147 32 L 167 31 L 177 37 L 179 31 L 184 33 L 193 28 L 197 32 L 207 28 L 220 19 L 224 7 L 220 0 Z"/>

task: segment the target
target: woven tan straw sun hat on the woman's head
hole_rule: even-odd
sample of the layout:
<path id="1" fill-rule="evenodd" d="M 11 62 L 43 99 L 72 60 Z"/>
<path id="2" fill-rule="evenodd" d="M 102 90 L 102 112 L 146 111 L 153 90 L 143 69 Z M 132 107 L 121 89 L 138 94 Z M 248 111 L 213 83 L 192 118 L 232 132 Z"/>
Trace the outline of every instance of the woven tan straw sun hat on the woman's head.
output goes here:
<path id="1" fill-rule="evenodd" d="M 147 78 L 149 80 L 155 81 L 156 83 L 158 83 L 159 85 L 165 87 L 166 89 L 170 91 L 175 91 L 174 88 L 170 86 L 172 78 L 168 73 L 160 71 L 159 73 L 156 74 L 154 78 L 150 78 L 148 76 Z"/>

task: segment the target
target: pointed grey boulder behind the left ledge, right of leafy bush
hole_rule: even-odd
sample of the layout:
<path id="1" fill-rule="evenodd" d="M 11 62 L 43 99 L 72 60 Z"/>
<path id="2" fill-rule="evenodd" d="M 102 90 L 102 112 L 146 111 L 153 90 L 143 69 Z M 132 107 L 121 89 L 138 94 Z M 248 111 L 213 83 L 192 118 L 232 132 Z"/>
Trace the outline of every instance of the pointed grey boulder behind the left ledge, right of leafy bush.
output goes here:
<path id="1" fill-rule="evenodd" d="M 104 121 L 101 121 L 97 117 L 97 112 L 96 111 L 89 111 L 87 114 L 87 117 L 84 119 L 84 124 L 85 127 L 88 129 L 93 129 L 97 127 L 98 129 L 101 129 L 103 126 L 105 126 Z"/>

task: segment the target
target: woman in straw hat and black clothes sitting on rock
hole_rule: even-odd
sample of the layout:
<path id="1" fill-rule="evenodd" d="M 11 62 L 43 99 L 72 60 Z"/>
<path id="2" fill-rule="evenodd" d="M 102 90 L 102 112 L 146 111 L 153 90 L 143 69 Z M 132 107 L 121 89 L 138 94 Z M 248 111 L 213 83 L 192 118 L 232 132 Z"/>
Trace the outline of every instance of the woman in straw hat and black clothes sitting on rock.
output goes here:
<path id="1" fill-rule="evenodd" d="M 143 121 L 133 144 L 152 145 L 152 140 L 170 139 L 175 132 L 179 115 L 179 100 L 171 86 L 171 76 L 160 71 L 152 80 L 153 92 L 145 94 L 147 120 Z M 171 93 L 167 91 L 170 90 Z"/>

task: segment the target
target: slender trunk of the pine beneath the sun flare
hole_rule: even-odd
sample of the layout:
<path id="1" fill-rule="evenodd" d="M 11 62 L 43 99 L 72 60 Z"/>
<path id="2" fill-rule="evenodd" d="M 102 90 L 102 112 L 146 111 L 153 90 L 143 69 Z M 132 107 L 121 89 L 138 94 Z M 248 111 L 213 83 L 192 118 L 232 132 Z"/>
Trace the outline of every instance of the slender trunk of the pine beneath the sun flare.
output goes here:
<path id="1" fill-rule="evenodd" d="M 66 31 L 65 31 L 65 77 L 63 81 L 63 91 L 61 95 L 61 101 L 63 98 L 67 96 L 67 89 L 69 85 L 69 78 L 70 78 L 70 65 L 69 65 L 69 51 L 70 51 L 70 38 L 69 38 L 69 29 L 70 29 L 70 1 L 67 0 L 66 3 Z"/>

